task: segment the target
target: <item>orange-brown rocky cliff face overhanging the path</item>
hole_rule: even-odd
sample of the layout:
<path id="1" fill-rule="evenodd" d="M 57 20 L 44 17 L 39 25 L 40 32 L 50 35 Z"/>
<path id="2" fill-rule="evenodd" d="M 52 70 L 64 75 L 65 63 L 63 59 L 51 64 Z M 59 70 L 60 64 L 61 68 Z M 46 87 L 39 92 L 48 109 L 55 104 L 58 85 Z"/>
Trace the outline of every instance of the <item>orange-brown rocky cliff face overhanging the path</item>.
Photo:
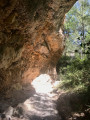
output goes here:
<path id="1" fill-rule="evenodd" d="M 76 0 L 0 0 L 0 91 L 51 71 L 64 49 L 62 25 Z"/>

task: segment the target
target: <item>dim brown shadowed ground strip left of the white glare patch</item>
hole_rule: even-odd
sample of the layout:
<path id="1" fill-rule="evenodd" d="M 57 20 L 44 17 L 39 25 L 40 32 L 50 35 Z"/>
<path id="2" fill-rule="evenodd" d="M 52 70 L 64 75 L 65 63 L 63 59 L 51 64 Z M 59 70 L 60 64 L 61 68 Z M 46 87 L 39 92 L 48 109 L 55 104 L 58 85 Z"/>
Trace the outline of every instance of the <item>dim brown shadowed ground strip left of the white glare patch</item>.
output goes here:
<path id="1" fill-rule="evenodd" d="M 10 90 L 10 96 L 0 94 L 0 113 L 5 111 L 9 106 L 16 107 L 19 103 L 23 103 L 26 99 L 35 94 L 35 89 L 31 84 L 24 85 L 21 90 Z M 8 95 L 9 95 L 8 94 Z"/>

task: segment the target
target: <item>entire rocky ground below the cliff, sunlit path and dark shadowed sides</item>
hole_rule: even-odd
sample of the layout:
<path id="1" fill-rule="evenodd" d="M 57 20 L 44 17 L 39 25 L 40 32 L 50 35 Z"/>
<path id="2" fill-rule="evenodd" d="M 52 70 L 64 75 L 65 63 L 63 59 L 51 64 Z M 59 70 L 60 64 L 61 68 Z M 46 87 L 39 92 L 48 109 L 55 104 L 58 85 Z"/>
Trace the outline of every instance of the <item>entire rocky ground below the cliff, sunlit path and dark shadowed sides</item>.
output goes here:
<path id="1" fill-rule="evenodd" d="M 83 96 L 58 91 L 56 83 L 52 84 L 45 74 L 37 77 L 32 85 L 21 89 L 18 85 L 12 94 L 10 90 L 0 96 L 0 120 L 90 120 L 88 104 L 82 105 Z"/>

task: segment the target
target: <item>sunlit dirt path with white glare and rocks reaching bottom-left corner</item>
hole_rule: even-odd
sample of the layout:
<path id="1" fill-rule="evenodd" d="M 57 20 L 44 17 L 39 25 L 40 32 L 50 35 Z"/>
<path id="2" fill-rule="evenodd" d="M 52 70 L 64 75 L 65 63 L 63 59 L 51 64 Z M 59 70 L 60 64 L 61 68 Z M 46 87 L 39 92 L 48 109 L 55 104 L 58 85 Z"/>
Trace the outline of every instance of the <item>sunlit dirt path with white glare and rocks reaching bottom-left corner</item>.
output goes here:
<path id="1" fill-rule="evenodd" d="M 17 107 L 9 107 L 4 112 L 5 119 L 1 120 L 61 120 L 56 110 L 57 94 L 52 92 L 51 79 L 44 75 L 37 78 L 32 85 L 36 93 Z"/>

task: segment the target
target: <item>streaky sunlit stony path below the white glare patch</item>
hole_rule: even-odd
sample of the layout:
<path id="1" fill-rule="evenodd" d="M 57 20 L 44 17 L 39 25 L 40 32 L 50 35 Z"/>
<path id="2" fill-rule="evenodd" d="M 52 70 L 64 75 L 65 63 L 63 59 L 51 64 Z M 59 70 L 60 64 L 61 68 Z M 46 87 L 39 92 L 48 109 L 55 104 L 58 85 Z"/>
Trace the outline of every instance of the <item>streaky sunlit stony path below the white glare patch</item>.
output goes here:
<path id="1" fill-rule="evenodd" d="M 53 97 L 47 94 L 35 94 L 19 104 L 14 111 L 15 117 L 27 120 L 61 120 Z"/>

